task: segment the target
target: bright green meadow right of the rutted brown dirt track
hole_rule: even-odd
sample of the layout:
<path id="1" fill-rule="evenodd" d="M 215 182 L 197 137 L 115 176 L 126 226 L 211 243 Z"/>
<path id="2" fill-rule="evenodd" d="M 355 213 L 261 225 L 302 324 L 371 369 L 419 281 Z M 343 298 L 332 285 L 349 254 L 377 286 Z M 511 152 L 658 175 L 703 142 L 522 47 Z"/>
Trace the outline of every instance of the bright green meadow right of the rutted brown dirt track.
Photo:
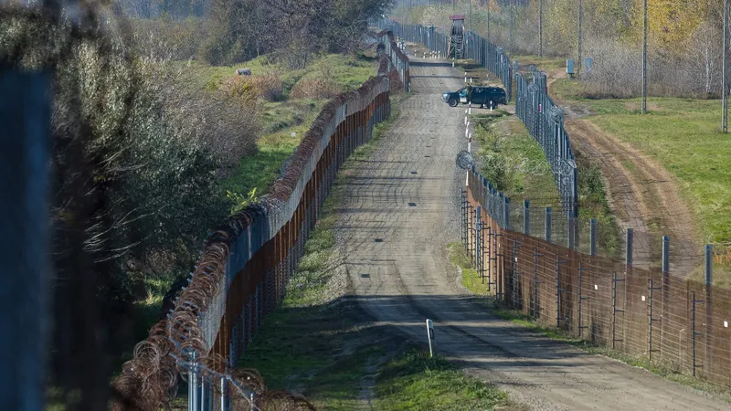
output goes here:
<path id="1" fill-rule="evenodd" d="M 653 97 L 648 114 L 642 115 L 640 99 L 581 98 L 577 81 L 556 80 L 554 90 L 561 99 L 588 106 L 596 113 L 588 121 L 652 157 L 677 178 L 683 199 L 701 225 L 703 241 L 716 246 L 715 284 L 731 287 L 731 140 L 720 131 L 720 100 Z M 698 272 L 695 278 L 701 276 Z"/>

